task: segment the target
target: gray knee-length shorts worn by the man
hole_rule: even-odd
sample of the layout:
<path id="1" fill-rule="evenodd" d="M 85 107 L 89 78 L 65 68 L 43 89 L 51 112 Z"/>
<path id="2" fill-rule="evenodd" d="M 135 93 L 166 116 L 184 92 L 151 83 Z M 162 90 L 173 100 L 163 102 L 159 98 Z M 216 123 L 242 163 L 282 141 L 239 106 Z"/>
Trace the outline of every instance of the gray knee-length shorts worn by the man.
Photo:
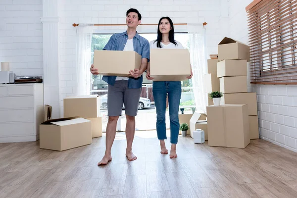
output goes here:
<path id="1" fill-rule="evenodd" d="M 121 116 L 123 104 L 126 115 L 136 116 L 140 99 L 141 88 L 128 89 L 127 80 L 115 81 L 114 86 L 108 85 L 107 115 Z"/>

